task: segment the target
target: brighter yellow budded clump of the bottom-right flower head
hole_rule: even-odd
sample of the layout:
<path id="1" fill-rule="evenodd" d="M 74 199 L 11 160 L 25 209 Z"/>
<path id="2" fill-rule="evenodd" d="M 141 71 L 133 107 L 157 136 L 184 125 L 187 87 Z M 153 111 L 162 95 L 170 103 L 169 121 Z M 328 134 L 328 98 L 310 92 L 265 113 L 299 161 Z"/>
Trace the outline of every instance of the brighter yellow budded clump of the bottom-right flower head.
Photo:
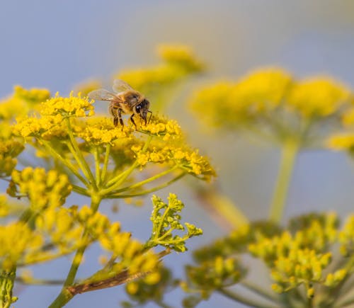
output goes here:
<path id="1" fill-rule="evenodd" d="M 350 223 L 353 223 L 353 219 L 348 220 L 343 228 L 345 231 L 339 233 L 342 234 L 342 247 L 350 246 L 347 241 L 350 238 L 350 235 L 347 236 L 350 234 L 350 228 L 353 229 Z M 253 256 L 263 259 L 270 268 L 271 276 L 275 280 L 273 290 L 287 292 L 304 284 L 308 297 L 313 297 L 314 283 L 336 286 L 348 273 L 347 268 L 338 268 L 334 273 L 326 275 L 324 273 L 332 259 L 330 245 L 338 239 L 336 215 L 309 215 L 293 220 L 292 224 L 292 229 L 297 230 L 294 235 L 285 231 L 278 236 L 261 237 L 249 244 L 249 251 Z"/>

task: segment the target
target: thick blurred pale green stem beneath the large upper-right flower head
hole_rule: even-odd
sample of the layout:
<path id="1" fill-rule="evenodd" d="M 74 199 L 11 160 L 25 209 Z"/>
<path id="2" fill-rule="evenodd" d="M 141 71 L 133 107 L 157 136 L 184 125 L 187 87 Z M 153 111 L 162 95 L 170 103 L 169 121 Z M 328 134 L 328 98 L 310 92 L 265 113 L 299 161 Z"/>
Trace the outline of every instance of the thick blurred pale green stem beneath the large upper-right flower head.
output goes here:
<path id="1" fill-rule="evenodd" d="M 297 152 L 299 151 L 299 139 L 289 137 L 282 147 L 280 169 L 277 183 L 273 193 L 273 201 L 270 205 L 269 218 L 272 222 L 279 223 L 285 209 L 287 193 L 290 186 L 292 171 L 294 169 Z"/>

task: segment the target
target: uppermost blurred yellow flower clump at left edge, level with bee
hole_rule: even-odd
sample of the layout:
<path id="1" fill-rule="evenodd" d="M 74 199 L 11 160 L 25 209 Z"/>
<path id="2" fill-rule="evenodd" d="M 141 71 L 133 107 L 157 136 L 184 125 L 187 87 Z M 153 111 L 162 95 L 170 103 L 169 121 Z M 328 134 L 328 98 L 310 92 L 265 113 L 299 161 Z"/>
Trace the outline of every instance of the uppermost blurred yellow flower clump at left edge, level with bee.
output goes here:
<path id="1" fill-rule="evenodd" d="M 21 86 L 13 88 L 13 95 L 0 101 L 0 118 L 11 120 L 20 115 L 26 115 L 30 108 L 47 101 L 50 98 L 50 91 L 47 89 L 24 89 Z"/>

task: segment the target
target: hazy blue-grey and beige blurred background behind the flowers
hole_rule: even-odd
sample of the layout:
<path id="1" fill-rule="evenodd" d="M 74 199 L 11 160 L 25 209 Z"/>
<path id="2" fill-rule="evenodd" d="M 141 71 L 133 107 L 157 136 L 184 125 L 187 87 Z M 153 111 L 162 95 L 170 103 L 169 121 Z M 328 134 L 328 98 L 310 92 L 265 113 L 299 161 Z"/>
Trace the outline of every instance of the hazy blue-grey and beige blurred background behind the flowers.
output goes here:
<path id="1" fill-rule="evenodd" d="M 0 97 L 11 93 L 15 84 L 47 87 L 52 93 L 67 95 L 85 79 L 109 81 L 118 69 L 154 64 L 154 47 L 160 42 L 193 47 L 210 65 L 207 79 L 211 81 L 236 79 L 250 69 L 278 64 L 299 77 L 331 74 L 354 86 L 354 2 L 350 0 L 1 1 L 0 42 Z M 183 124 L 190 144 L 212 158 L 219 187 L 249 217 L 265 217 L 278 150 L 249 144 L 235 135 L 210 137 L 185 114 L 183 104 L 171 107 L 169 115 Z M 353 161 L 344 154 L 300 154 L 286 216 L 310 210 L 337 210 L 342 216 L 352 212 L 353 171 Z M 186 219 L 205 229 L 205 236 L 190 241 L 191 248 L 223 234 L 197 206 L 188 185 L 178 183 L 159 195 L 166 197 L 169 191 L 187 205 Z M 70 202 L 88 200 L 72 197 Z M 149 232 L 149 203 L 143 208 L 121 206 L 118 215 L 110 214 L 109 208 L 106 204 L 104 211 L 144 239 Z M 96 247 L 90 249 L 81 277 L 97 268 L 97 255 Z M 189 260 L 188 254 L 168 256 L 166 264 L 181 275 L 183 263 Z M 38 266 L 35 275 L 63 278 L 68 264 L 69 258 Z M 47 307 L 59 292 L 58 287 L 17 290 L 16 307 L 26 308 Z M 166 298 L 180 307 L 181 292 L 171 292 Z M 119 307 L 123 299 L 122 287 L 115 287 L 79 295 L 67 307 Z M 219 296 L 200 307 L 216 304 L 243 307 Z"/>

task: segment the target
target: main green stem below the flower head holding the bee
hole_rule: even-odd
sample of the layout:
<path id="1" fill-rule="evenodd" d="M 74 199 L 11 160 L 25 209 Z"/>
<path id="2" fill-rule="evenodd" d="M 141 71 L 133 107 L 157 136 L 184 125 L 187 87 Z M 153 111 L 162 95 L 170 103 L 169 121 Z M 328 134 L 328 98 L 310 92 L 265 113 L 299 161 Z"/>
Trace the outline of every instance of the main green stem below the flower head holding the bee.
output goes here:
<path id="1" fill-rule="evenodd" d="M 100 205 L 100 203 L 101 203 L 101 195 L 98 195 L 98 194 L 91 195 L 91 209 L 93 210 L 93 213 L 97 212 L 98 206 Z M 88 241 L 88 239 L 89 239 L 89 230 L 84 229 L 84 232 L 81 236 L 81 241 L 83 243 L 86 243 L 86 241 Z M 76 251 L 76 254 L 75 254 L 74 259 L 72 261 L 72 266 L 70 267 L 67 278 L 64 281 L 62 291 L 59 293 L 59 295 L 54 300 L 54 302 L 52 302 L 52 304 L 50 304 L 49 308 L 63 307 L 74 296 L 74 295 L 72 295 L 71 292 L 69 292 L 68 287 L 73 285 L 73 283 L 74 283 L 77 270 L 79 269 L 79 266 L 81 264 L 81 261 L 82 261 L 82 258 L 84 256 L 84 252 L 85 252 L 87 246 L 89 246 L 89 244 L 84 244 Z"/>

